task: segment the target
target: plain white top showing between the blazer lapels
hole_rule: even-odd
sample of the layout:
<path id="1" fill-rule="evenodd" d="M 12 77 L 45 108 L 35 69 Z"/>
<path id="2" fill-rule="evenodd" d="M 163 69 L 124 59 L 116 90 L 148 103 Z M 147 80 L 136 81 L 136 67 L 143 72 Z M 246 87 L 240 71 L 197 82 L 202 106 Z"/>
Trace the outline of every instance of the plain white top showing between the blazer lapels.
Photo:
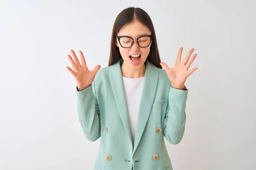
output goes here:
<path id="1" fill-rule="evenodd" d="M 143 83 L 145 77 L 140 78 L 126 78 L 122 77 L 125 99 L 128 109 L 128 117 L 131 129 L 131 139 L 134 145 L 135 130 L 137 125 L 138 111 L 140 106 L 140 99 L 142 96 Z"/>

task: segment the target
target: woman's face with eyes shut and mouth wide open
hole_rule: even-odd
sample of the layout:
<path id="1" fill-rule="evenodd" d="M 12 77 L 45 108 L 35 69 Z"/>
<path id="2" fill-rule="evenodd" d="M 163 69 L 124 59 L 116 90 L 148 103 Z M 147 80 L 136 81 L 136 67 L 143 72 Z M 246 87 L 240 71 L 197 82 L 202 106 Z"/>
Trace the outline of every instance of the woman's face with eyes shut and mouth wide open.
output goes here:
<path id="1" fill-rule="evenodd" d="M 151 42 L 148 47 L 141 48 L 137 44 L 137 41 L 135 39 L 142 35 L 151 35 L 151 31 L 149 31 L 147 27 L 145 27 L 138 21 L 135 21 L 134 23 L 125 26 L 117 34 L 117 36 L 128 36 L 134 39 L 133 45 L 130 48 L 123 48 L 116 38 L 116 46 L 119 47 L 120 54 L 124 60 L 123 65 L 125 64 L 130 68 L 140 68 L 144 65 L 144 62 L 147 59 L 150 51 Z M 146 42 L 145 40 L 148 40 L 147 37 L 145 37 L 144 39 L 139 39 L 139 43 L 141 46 L 143 43 Z M 122 43 L 122 45 L 125 43 L 128 45 L 131 44 L 131 39 L 122 38 L 120 39 L 120 42 Z"/>

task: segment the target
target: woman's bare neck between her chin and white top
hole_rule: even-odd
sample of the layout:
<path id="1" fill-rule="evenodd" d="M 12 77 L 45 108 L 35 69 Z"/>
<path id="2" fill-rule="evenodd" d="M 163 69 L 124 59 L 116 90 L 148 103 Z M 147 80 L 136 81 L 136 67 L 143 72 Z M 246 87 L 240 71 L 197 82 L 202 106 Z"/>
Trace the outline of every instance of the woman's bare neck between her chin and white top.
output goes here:
<path id="1" fill-rule="evenodd" d="M 140 78 L 145 76 L 146 67 L 145 64 L 142 65 L 142 67 L 138 68 L 131 68 L 125 62 L 121 65 L 121 72 L 122 76 L 126 78 Z"/>

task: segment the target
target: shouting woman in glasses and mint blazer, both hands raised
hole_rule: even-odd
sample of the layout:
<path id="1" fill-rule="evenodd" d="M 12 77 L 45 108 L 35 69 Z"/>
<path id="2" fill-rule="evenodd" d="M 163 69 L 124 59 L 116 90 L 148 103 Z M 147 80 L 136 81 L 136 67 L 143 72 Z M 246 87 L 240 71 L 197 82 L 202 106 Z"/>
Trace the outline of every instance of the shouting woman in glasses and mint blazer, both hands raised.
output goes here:
<path id="1" fill-rule="evenodd" d="M 173 68 L 160 61 L 154 26 L 141 8 L 116 17 L 108 67 L 89 71 L 82 52 L 80 64 L 71 50 L 79 121 L 88 140 L 101 137 L 94 170 L 172 170 L 163 136 L 172 144 L 182 139 L 184 84 L 197 69 L 188 71 L 194 48 L 183 62 L 182 50 Z"/>

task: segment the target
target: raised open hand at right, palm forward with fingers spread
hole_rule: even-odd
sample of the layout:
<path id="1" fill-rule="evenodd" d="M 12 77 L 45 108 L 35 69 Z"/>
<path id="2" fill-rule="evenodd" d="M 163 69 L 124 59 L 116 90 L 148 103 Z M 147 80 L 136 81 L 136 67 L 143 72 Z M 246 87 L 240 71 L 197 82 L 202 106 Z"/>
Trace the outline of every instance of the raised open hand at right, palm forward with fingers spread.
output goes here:
<path id="1" fill-rule="evenodd" d="M 171 81 L 172 87 L 178 88 L 178 89 L 184 88 L 186 79 L 189 77 L 190 74 L 192 74 L 196 69 L 198 69 L 197 67 L 195 67 L 188 71 L 190 65 L 192 64 L 195 57 L 197 56 L 197 54 L 194 54 L 193 57 L 189 59 L 189 57 L 191 56 L 195 48 L 192 48 L 184 58 L 183 62 L 180 62 L 182 50 L 183 50 L 183 47 L 181 47 L 178 52 L 177 60 L 173 68 L 169 68 L 164 62 L 160 62 L 160 65 L 164 68 L 168 78 Z"/>

